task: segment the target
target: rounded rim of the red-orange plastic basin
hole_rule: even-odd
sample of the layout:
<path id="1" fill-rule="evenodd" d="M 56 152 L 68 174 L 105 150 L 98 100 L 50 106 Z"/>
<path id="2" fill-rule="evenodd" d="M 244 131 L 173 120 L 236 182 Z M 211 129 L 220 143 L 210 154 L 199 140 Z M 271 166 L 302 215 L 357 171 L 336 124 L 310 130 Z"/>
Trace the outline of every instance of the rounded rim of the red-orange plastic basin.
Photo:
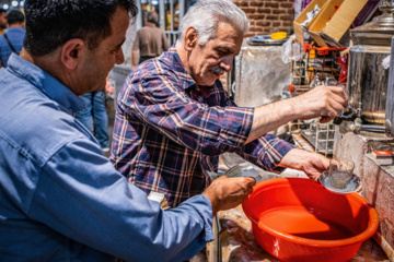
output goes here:
<path id="1" fill-rule="evenodd" d="M 300 180 L 300 179 L 305 180 L 305 181 L 309 180 L 310 182 L 313 182 L 312 180 L 310 180 L 308 178 L 273 178 L 273 179 L 265 180 L 265 181 L 262 181 L 262 182 L 257 183 L 254 187 L 254 190 L 256 190 L 258 188 L 262 188 L 262 187 L 265 187 L 267 184 L 270 184 L 273 182 L 275 182 L 275 183 L 289 183 L 289 180 Z M 315 183 L 315 182 L 313 182 L 313 183 L 316 187 L 322 187 L 323 188 L 323 186 L 321 186 L 318 183 Z M 251 198 L 251 195 L 250 195 L 250 198 Z M 343 247 L 343 246 L 355 245 L 355 243 L 358 243 L 358 242 L 363 242 L 367 239 L 369 239 L 370 237 L 372 237 L 373 234 L 375 234 L 375 231 L 378 230 L 378 226 L 379 226 L 379 217 L 378 217 L 378 213 L 376 213 L 375 209 L 373 209 L 373 206 L 364 198 L 362 198 L 358 193 L 351 193 L 351 194 L 348 194 L 348 198 L 351 198 L 351 199 L 354 199 L 356 201 L 362 202 L 363 204 L 368 205 L 369 215 L 370 215 L 370 223 L 368 225 L 368 228 L 364 231 L 362 231 L 361 234 L 359 234 L 359 235 L 357 235 L 355 237 L 345 238 L 345 239 L 340 239 L 340 240 L 314 240 L 314 239 L 309 239 L 309 238 L 297 237 L 297 236 L 292 236 L 292 235 L 289 235 L 289 234 L 277 231 L 277 230 L 275 230 L 273 228 L 266 227 L 263 223 L 258 223 L 258 219 L 256 217 L 254 217 L 247 211 L 247 209 L 248 209 L 247 200 L 250 198 L 247 198 L 242 203 L 242 209 L 243 209 L 245 215 L 251 219 L 251 222 L 253 224 L 257 225 L 258 228 L 263 229 L 264 231 L 266 231 L 266 233 L 268 233 L 268 234 L 270 234 L 270 235 L 273 235 L 275 237 L 278 237 L 278 238 L 294 242 L 294 243 L 300 243 L 300 245 L 305 245 L 305 246 L 313 246 L 313 247 Z"/>

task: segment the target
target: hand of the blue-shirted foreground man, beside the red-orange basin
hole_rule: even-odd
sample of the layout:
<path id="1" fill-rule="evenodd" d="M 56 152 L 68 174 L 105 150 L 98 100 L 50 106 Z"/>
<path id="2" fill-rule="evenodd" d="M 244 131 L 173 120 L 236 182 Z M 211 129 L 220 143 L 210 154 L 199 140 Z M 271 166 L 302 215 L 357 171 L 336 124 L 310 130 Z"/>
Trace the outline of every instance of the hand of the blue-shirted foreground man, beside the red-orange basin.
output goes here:
<path id="1" fill-rule="evenodd" d="M 213 215 L 218 211 L 237 206 L 253 192 L 256 180 L 250 177 L 219 177 L 202 192 L 212 204 Z"/>

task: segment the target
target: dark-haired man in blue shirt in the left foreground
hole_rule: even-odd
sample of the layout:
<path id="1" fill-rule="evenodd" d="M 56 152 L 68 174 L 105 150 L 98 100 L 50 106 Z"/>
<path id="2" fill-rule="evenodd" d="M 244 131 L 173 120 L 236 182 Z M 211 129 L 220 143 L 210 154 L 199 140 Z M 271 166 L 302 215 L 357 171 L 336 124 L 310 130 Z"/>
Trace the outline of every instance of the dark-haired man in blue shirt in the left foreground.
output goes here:
<path id="1" fill-rule="evenodd" d="M 129 13 L 132 0 L 26 0 L 25 49 L 0 69 L 1 261 L 185 261 L 212 240 L 212 213 L 252 192 L 223 177 L 163 211 L 73 117 L 124 62 Z"/>

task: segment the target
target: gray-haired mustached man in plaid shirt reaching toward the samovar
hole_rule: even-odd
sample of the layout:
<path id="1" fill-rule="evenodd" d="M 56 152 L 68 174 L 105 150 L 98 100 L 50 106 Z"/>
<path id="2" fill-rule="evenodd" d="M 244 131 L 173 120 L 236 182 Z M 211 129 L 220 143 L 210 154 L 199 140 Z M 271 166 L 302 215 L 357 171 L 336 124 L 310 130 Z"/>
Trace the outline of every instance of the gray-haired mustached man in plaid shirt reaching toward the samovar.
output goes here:
<path id="1" fill-rule="evenodd" d="M 265 168 L 291 167 L 315 179 L 327 158 L 267 134 L 294 119 L 334 118 L 347 105 L 340 87 L 320 86 L 258 108 L 229 99 L 219 76 L 232 69 L 248 29 L 229 0 L 199 0 L 181 22 L 175 48 L 140 64 L 118 99 L 112 162 L 147 193 L 176 206 L 209 183 L 219 155 L 235 152 Z"/>

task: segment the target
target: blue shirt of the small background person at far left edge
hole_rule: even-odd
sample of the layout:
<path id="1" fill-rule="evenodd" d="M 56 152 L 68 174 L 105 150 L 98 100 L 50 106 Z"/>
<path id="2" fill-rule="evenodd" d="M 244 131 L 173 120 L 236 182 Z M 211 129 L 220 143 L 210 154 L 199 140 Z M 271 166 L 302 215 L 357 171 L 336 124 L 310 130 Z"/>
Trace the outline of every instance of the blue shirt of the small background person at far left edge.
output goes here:
<path id="1" fill-rule="evenodd" d="M 25 36 L 25 29 L 20 27 L 10 27 L 7 29 L 7 36 L 11 41 L 11 45 L 18 52 L 21 52 L 23 47 L 23 39 Z M 12 53 L 12 49 L 4 38 L 4 34 L 0 36 L 0 61 L 3 67 L 7 67 L 7 62 Z"/>

